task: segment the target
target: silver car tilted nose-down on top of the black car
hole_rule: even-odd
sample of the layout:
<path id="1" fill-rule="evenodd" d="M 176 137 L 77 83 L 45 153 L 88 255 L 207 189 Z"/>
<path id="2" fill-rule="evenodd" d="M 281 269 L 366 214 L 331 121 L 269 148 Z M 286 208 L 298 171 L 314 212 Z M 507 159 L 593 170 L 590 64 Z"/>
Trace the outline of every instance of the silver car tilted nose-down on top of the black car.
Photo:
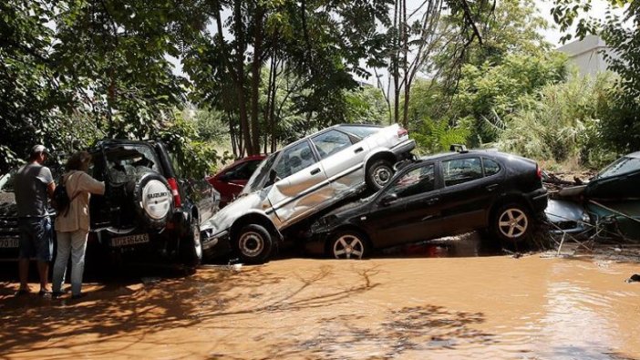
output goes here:
<path id="1" fill-rule="evenodd" d="M 286 146 L 253 172 L 240 197 L 202 227 L 242 262 L 265 262 L 283 232 L 368 188 L 377 191 L 416 146 L 397 124 L 335 125 Z"/>

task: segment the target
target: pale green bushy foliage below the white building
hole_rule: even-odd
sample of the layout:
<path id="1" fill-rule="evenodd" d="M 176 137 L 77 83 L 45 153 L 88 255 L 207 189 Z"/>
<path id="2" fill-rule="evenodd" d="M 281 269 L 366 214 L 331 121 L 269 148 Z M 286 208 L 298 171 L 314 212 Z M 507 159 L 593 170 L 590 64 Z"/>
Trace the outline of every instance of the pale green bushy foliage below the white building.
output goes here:
<path id="1" fill-rule="evenodd" d="M 613 84 L 611 74 L 573 76 L 524 95 L 518 110 L 505 119 L 499 148 L 532 159 L 601 166 L 615 157 L 603 143 Z"/>

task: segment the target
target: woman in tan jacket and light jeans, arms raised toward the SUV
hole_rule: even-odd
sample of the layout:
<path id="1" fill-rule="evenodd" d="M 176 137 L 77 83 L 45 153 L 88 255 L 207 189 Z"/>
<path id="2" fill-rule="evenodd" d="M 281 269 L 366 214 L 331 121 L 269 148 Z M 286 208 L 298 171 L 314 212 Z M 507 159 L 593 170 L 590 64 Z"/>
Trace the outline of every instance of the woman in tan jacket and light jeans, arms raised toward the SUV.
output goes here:
<path id="1" fill-rule="evenodd" d="M 62 295 L 67 262 L 71 255 L 71 298 L 82 297 L 82 274 L 85 270 L 85 252 L 89 230 L 88 202 L 91 194 L 105 193 L 105 184 L 93 179 L 88 173 L 91 155 L 79 151 L 67 161 L 67 172 L 62 176 L 61 185 L 67 187 L 70 202 L 67 211 L 57 214 L 57 255 L 53 273 L 53 295 Z"/>

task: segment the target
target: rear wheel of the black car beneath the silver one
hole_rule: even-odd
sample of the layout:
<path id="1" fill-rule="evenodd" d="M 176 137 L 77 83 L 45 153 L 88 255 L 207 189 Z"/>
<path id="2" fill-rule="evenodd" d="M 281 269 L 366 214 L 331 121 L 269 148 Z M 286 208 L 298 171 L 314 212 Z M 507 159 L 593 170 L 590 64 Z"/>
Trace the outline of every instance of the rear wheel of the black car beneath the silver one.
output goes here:
<path id="1" fill-rule="evenodd" d="M 533 229 L 532 216 L 521 203 L 502 205 L 491 220 L 491 230 L 500 241 L 512 246 L 529 238 Z"/>

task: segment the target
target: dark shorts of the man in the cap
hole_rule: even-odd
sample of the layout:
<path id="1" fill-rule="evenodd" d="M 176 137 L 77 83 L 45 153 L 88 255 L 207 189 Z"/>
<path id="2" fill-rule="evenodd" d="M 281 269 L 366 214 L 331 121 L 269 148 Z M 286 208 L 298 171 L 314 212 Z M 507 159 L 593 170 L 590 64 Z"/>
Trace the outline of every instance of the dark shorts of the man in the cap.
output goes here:
<path id="1" fill-rule="evenodd" d="M 53 239 L 51 219 L 20 218 L 20 255 L 19 259 L 36 258 L 41 262 L 50 262 L 53 257 Z"/>

